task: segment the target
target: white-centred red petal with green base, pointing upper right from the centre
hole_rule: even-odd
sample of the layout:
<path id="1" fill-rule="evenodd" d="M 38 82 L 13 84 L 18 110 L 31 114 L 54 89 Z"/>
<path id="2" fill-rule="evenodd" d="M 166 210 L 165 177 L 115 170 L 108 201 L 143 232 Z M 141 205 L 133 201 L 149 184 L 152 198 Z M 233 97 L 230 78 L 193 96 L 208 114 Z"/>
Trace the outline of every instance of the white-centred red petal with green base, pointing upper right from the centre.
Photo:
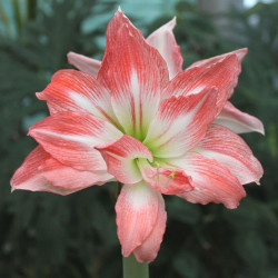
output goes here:
<path id="1" fill-rule="evenodd" d="M 179 157 L 205 136 L 217 113 L 217 89 L 165 100 L 143 143 L 155 157 Z"/>

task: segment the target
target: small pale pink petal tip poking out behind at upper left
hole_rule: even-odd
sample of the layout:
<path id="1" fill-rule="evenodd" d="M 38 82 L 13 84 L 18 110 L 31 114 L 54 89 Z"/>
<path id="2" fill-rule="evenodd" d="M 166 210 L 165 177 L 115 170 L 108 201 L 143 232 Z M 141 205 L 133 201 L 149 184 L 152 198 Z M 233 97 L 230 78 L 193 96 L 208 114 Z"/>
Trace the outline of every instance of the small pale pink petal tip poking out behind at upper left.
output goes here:
<path id="1" fill-rule="evenodd" d="M 79 70 L 97 78 L 101 61 L 75 52 L 68 53 L 68 62 Z"/>

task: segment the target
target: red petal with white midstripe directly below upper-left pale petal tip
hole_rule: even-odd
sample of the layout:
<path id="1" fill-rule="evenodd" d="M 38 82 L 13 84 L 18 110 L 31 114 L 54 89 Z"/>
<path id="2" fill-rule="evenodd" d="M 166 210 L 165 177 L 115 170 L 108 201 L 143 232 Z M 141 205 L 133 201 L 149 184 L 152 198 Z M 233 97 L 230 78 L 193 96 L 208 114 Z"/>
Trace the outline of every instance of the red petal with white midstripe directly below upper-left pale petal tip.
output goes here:
<path id="1" fill-rule="evenodd" d="M 97 79 L 78 70 L 57 71 L 51 83 L 37 97 L 47 101 L 51 113 L 89 111 L 115 125 L 117 122 L 110 92 Z"/>

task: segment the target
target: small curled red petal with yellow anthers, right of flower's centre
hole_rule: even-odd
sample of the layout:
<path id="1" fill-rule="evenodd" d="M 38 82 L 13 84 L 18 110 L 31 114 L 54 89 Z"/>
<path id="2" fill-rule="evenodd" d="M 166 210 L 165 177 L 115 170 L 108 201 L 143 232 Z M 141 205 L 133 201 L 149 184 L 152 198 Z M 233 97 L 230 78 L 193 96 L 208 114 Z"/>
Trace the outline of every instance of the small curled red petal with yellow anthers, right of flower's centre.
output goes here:
<path id="1" fill-rule="evenodd" d="M 139 159 L 138 166 L 145 181 L 155 190 L 165 195 L 178 195 L 192 190 L 191 178 L 183 170 L 175 168 L 151 167 L 146 159 Z"/>

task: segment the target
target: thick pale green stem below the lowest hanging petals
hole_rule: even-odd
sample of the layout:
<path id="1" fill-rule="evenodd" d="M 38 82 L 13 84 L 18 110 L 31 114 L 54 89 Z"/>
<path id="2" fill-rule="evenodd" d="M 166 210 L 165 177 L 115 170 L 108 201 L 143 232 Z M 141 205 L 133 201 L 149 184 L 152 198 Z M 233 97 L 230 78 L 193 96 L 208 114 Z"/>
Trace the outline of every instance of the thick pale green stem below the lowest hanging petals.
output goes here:
<path id="1" fill-rule="evenodd" d="M 122 266 L 123 278 L 149 278 L 149 265 L 138 262 L 133 254 L 128 258 L 122 257 Z"/>

